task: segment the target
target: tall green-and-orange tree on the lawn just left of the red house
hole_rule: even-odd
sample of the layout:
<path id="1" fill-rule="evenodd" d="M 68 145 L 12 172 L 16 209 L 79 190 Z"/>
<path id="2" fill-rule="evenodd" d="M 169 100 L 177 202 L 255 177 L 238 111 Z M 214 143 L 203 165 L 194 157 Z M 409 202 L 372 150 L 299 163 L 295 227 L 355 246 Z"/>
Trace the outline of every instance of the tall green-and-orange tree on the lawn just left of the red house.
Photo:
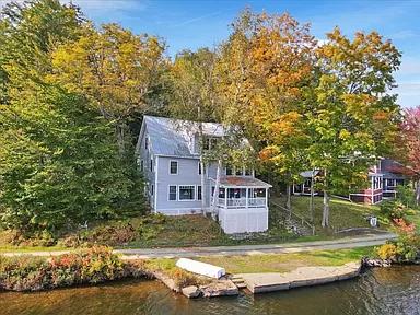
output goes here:
<path id="1" fill-rule="evenodd" d="M 320 79 L 312 110 L 306 113 L 312 144 L 307 156 L 324 170 L 323 226 L 328 225 L 332 191 L 363 187 L 375 156 L 389 152 L 399 107 L 393 72 L 400 52 L 376 32 L 358 32 L 350 40 L 338 27 L 316 56 Z"/>

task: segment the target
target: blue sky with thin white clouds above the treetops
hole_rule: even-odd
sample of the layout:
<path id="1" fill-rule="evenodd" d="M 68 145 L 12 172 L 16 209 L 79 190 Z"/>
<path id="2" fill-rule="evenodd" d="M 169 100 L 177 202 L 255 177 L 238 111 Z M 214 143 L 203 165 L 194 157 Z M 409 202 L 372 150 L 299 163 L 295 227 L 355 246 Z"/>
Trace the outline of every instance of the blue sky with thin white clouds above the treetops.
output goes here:
<path id="1" fill-rule="evenodd" d="M 0 0 L 0 7 L 10 0 Z M 21 1 L 21 0 L 20 0 Z M 60 0 L 67 2 L 68 0 Z M 395 73 L 398 103 L 420 105 L 420 1 L 221 1 L 221 0 L 72 0 L 95 23 L 118 22 L 137 34 L 165 38 L 168 54 L 188 48 L 212 46 L 228 38 L 230 24 L 245 7 L 254 12 L 288 11 L 301 23 L 312 24 L 312 34 L 325 39 L 325 33 L 338 25 L 352 36 L 354 32 L 376 31 L 393 40 L 402 52 Z"/>

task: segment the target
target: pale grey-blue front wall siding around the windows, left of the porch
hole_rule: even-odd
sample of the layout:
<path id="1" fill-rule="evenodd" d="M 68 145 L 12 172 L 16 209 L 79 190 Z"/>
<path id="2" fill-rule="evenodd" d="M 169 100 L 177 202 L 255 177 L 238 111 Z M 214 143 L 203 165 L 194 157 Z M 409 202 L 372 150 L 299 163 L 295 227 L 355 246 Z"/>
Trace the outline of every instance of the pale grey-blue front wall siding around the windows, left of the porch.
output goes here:
<path id="1" fill-rule="evenodd" d="M 170 174 L 170 162 L 178 162 L 178 174 Z M 187 214 L 201 211 L 201 200 L 197 199 L 197 186 L 201 186 L 201 177 L 198 175 L 199 159 L 184 159 L 159 156 L 158 183 L 155 194 L 158 201 L 155 210 L 164 214 Z M 209 167 L 210 173 L 215 174 L 214 166 Z M 207 207 L 209 207 L 210 180 L 206 176 Z M 177 186 L 177 200 L 170 200 L 170 186 Z M 195 186 L 195 200 L 179 200 L 178 186 Z"/>

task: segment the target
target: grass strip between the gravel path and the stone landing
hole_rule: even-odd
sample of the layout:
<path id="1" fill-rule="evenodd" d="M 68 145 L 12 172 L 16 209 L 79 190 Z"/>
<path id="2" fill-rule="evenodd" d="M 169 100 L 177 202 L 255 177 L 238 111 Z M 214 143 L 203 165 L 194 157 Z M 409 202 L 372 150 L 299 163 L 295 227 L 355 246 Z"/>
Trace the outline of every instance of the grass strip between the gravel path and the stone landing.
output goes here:
<path id="1" fill-rule="evenodd" d="M 229 273 L 288 272 L 299 267 L 341 266 L 346 262 L 373 256 L 374 247 L 314 250 L 293 254 L 200 257 L 197 260 L 225 268 Z"/>

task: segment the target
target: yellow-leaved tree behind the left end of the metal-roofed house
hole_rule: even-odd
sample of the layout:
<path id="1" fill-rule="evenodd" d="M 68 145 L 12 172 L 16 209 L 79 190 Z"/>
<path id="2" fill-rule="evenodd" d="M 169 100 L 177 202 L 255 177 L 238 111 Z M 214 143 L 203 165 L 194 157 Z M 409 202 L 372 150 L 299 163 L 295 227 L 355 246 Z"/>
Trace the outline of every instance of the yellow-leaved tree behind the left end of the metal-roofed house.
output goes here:
<path id="1" fill-rule="evenodd" d="M 127 122 L 135 112 L 147 109 L 144 98 L 163 69 L 165 47 L 156 36 L 135 35 L 115 23 L 100 28 L 89 24 L 78 40 L 54 51 L 52 80 L 88 96 L 113 124 L 117 143 L 125 151 L 131 143 Z"/>

